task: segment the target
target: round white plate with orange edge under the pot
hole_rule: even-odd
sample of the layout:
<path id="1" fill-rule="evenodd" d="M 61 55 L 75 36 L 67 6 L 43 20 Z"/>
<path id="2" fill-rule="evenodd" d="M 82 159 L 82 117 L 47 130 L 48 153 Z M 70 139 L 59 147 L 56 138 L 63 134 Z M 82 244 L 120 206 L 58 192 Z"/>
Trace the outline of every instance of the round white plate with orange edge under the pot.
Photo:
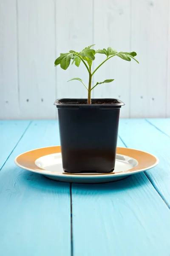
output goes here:
<path id="1" fill-rule="evenodd" d="M 66 173 L 62 169 L 60 146 L 37 148 L 17 156 L 15 164 L 30 172 L 53 180 L 74 183 L 103 183 L 124 179 L 129 175 L 155 167 L 159 159 L 152 154 L 132 148 L 117 147 L 115 169 L 110 173 Z"/>

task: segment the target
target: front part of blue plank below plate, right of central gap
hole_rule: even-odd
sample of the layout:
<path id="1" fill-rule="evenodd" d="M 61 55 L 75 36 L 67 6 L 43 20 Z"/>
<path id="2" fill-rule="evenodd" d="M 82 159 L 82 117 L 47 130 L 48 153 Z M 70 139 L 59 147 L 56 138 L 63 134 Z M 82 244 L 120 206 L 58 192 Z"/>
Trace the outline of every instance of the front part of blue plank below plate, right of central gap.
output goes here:
<path id="1" fill-rule="evenodd" d="M 72 184 L 72 215 L 74 256 L 169 255 L 170 210 L 144 173 Z"/>

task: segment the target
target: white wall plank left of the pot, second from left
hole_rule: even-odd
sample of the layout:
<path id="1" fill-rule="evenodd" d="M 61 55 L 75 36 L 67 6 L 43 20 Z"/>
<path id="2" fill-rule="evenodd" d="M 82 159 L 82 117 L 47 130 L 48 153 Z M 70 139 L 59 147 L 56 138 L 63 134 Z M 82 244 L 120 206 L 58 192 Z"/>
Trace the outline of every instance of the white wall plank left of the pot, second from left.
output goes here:
<path id="1" fill-rule="evenodd" d="M 18 0 L 20 118 L 54 119 L 55 4 Z"/>

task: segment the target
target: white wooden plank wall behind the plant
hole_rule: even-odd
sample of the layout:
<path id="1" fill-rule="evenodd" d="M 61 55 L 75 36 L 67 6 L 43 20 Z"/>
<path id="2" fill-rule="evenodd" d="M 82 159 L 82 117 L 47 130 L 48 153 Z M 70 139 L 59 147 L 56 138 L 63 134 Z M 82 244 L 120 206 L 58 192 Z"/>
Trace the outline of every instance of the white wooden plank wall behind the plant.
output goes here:
<path id="1" fill-rule="evenodd" d="M 88 82 L 83 65 L 65 71 L 54 60 L 90 44 L 136 51 L 140 62 L 108 61 L 94 81 L 115 81 L 93 97 L 121 99 L 122 117 L 170 117 L 170 0 L 0 0 L 0 119 L 55 119 L 55 99 L 86 98 L 67 83 Z"/>

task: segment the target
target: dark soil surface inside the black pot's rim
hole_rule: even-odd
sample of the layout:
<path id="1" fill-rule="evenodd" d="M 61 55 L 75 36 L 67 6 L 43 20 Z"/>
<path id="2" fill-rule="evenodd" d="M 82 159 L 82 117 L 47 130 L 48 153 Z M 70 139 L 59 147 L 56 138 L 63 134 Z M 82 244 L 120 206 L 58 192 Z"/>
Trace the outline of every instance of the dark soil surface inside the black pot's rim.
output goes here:
<path id="1" fill-rule="evenodd" d="M 119 104 L 120 102 L 118 102 L 116 99 L 92 99 L 91 100 L 91 104 Z M 88 104 L 88 101 L 86 101 L 85 99 L 82 100 L 74 100 L 74 99 L 69 99 L 67 101 L 62 101 L 62 102 L 57 102 L 57 104 L 77 104 L 77 105 L 85 105 Z"/>

